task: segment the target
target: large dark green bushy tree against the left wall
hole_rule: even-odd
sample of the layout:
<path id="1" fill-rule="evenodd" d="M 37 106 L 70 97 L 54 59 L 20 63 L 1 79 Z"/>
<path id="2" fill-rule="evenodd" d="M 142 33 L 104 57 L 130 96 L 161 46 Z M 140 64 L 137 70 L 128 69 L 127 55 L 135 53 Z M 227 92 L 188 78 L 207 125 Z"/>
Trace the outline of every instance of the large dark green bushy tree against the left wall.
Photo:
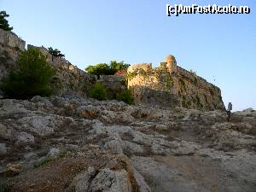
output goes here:
<path id="1" fill-rule="evenodd" d="M 30 48 L 19 55 L 17 66 L 3 79 L 1 88 L 4 96 L 15 99 L 49 96 L 52 93 L 49 84 L 54 74 L 55 69 L 45 56 L 38 49 Z"/>

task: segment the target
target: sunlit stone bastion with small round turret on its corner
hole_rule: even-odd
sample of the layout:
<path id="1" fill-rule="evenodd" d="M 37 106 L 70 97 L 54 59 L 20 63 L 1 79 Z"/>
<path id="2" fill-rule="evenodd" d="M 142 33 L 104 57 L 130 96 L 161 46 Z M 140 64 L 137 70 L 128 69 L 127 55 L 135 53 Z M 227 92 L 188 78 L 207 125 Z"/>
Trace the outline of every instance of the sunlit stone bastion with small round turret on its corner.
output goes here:
<path id="1" fill-rule="evenodd" d="M 127 73 L 128 87 L 133 91 L 137 103 L 224 110 L 219 88 L 195 73 L 178 67 L 173 55 L 167 55 L 166 61 L 160 62 L 159 67 L 140 63 L 129 67 Z"/>

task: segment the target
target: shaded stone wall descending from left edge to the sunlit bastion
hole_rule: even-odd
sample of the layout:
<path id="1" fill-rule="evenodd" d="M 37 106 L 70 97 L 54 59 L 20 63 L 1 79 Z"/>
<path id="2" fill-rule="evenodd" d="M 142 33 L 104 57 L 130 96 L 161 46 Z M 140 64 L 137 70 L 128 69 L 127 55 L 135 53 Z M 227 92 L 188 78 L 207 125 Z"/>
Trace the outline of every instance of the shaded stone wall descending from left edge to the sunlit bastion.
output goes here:
<path id="1" fill-rule="evenodd" d="M 18 55 L 25 50 L 26 42 L 19 38 L 14 32 L 6 32 L 0 29 L 0 81 L 5 77 L 11 67 L 15 67 Z M 89 89 L 96 81 L 106 85 L 110 98 L 126 87 L 122 77 L 114 75 L 102 75 L 97 79 L 95 75 L 85 73 L 79 67 L 74 66 L 65 58 L 57 58 L 49 54 L 44 46 L 37 47 L 31 44 L 27 48 L 39 49 L 46 56 L 47 61 L 55 67 L 56 74 L 52 85 L 57 96 L 88 96 Z M 0 96 L 2 95 L 0 90 Z"/>

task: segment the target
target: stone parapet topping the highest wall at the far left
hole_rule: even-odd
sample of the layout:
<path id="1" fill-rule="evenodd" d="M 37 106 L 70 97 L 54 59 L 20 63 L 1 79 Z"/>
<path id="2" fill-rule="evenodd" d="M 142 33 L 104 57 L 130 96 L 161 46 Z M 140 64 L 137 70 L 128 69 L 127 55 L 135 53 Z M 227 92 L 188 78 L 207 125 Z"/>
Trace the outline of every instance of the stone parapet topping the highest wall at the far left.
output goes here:
<path id="1" fill-rule="evenodd" d="M 0 44 L 9 48 L 24 50 L 26 42 L 14 32 L 6 32 L 0 29 Z"/>

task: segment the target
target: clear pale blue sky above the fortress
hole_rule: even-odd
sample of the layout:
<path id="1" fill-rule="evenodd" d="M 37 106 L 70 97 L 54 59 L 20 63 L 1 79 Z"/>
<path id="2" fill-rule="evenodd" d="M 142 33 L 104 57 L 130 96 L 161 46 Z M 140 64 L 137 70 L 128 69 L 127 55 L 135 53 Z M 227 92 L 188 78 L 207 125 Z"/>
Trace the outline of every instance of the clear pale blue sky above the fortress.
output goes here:
<path id="1" fill-rule="evenodd" d="M 166 3 L 247 5 L 251 14 L 167 17 Z M 81 69 L 111 60 L 157 67 L 171 54 L 220 87 L 225 105 L 256 108 L 254 0 L 0 0 L 0 9 L 26 44 L 61 49 Z"/>

